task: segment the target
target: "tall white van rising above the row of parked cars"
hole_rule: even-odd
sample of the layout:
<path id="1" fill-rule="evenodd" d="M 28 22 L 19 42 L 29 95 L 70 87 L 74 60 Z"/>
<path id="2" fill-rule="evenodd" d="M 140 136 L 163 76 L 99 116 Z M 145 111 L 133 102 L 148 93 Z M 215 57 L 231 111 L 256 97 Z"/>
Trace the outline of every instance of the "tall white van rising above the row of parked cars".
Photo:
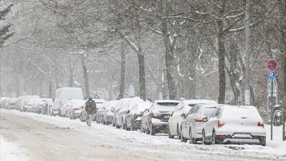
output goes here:
<path id="1" fill-rule="evenodd" d="M 55 98 L 53 99 L 54 104 L 50 109 L 51 115 L 56 116 L 59 114 L 61 116 L 61 107 L 68 99 L 83 100 L 81 88 L 64 87 L 57 89 Z"/>

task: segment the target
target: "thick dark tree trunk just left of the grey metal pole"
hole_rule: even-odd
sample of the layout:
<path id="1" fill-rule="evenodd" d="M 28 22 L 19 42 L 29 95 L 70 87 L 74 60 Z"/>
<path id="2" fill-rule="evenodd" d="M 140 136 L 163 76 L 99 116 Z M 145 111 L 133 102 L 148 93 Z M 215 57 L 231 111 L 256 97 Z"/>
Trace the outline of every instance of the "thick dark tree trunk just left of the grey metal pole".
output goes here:
<path id="1" fill-rule="evenodd" d="M 224 14 L 225 1 L 220 10 L 220 17 Z M 223 21 L 218 21 L 218 54 L 219 54 L 219 99 L 218 103 L 225 103 L 225 33 L 223 31 Z"/>

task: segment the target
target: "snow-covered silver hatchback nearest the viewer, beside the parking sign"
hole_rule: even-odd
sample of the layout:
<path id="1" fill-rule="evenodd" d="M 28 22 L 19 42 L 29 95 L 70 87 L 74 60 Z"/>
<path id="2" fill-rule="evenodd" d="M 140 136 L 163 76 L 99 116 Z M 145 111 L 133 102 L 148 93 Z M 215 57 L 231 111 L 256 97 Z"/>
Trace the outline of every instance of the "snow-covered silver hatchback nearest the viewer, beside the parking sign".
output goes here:
<path id="1" fill-rule="evenodd" d="M 254 106 L 219 106 L 203 120 L 202 144 L 266 146 L 264 123 Z"/>

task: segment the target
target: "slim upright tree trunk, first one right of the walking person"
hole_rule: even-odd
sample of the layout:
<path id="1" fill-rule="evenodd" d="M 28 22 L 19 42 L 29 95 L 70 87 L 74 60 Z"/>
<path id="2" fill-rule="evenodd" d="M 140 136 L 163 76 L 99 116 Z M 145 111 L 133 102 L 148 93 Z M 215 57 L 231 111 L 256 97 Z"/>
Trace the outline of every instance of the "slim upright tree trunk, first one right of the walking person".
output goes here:
<path id="1" fill-rule="evenodd" d="M 125 45 L 122 42 L 121 45 L 121 73 L 120 73 L 120 92 L 119 92 L 119 99 L 124 98 L 124 77 L 125 77 L 125 54 L 124 54 Z"/>

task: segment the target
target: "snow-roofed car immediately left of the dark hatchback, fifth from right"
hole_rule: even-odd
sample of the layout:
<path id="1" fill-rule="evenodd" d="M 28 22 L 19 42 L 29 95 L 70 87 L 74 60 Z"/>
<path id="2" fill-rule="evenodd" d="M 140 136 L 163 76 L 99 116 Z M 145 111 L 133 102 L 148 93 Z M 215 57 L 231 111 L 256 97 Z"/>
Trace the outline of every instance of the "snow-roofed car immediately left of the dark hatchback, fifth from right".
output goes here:
<path id="1" fill-rule="evenodd" d="M 146 108 L 151 106 L 151 102 L 136 102 L 126 113 L 126 129 L 136 131 L 141 128 L 141 117 Z"/>

